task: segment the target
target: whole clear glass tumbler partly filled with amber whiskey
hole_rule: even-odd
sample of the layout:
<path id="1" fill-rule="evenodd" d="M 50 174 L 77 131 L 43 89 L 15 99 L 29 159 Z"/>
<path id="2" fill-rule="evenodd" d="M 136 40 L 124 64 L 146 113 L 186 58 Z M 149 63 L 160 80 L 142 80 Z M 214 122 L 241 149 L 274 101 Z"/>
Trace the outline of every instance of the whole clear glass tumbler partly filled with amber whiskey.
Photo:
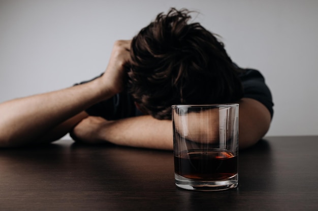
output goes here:
<path id="1" fill-rule="evenodd" d="M 218 191 L 238 186 L 238 106 L 172 106 L 177 187 Z"/>

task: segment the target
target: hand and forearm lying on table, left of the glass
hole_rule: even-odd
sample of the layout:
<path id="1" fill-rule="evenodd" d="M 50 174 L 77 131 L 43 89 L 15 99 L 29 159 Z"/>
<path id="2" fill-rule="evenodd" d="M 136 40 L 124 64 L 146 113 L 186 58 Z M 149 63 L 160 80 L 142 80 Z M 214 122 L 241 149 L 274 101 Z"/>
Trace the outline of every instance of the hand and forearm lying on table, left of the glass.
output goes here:
<path id="1" fill-rule="evenodd" d="M 89 116 L 79 122 L 70 134 L 76 141 L 87 144 L 173 149 L 171 120 L 158 120 L 150 115 L 118 120 Z"/>

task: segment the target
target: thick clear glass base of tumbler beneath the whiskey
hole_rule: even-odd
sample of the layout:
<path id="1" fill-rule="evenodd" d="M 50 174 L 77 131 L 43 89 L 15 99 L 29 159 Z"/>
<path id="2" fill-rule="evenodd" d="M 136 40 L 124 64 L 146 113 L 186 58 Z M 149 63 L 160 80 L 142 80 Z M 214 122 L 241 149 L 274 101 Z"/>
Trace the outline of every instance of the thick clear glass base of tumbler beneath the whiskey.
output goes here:
<path id="1" fill-rule="evenodd" d="M 186 190 L 200 190 L 200 191 L 219 191 L 236 188 L 238 185 L 238 174 L 220 181 L 199 181 L 192 180 L 175 174 L 176 186 Z"/>

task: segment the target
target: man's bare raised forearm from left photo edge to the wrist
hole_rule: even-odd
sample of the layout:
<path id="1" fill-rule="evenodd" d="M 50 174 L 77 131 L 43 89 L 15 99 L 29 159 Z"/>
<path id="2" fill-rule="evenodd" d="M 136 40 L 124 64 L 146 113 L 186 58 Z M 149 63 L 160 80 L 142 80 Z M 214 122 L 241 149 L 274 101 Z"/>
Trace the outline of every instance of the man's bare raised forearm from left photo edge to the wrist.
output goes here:
<path id="1" fill-rule="evenodd" d="M 99 87 L 98 81 L 92 81 L 1 104 L 0 146 L 11 147 L 37 142 L 60 123 L 98 102 L 104 95 Z"/>

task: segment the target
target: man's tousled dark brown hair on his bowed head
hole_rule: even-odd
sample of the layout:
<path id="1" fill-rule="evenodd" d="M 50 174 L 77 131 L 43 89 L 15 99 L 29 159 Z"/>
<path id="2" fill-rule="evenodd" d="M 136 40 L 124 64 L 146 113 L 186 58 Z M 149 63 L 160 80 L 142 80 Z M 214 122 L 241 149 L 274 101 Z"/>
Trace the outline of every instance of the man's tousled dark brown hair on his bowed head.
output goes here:
<path id="1" fill-rule="evenodd" d="M 224 45 L 190 11 L 170 9 L 133 38 L 129 91 L 157 119 L 171 119 L 173 104 L 230 103 L 242 97 L 237 68 Z"/>

